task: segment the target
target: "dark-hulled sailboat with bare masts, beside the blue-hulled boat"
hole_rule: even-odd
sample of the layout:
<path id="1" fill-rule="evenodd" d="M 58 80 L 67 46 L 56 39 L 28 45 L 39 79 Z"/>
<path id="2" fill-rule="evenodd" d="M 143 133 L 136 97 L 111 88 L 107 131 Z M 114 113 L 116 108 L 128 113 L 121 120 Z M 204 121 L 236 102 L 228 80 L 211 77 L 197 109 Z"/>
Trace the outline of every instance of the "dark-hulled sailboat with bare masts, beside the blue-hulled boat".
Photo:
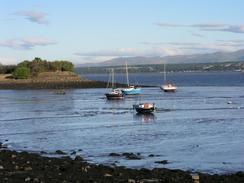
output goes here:
<path id="1" fill-rule="evenodd" d="M 108 100 L 121 100 L 124 98 L 124 95 L 120 89 L 115 88 L 114 69 L 111 69 L 111 77 L 112 77 L 112 81 L 111 81 L 112 90 L 109 93 L 105 93 L 105 95 Z M 109 87 L 109 81 L 107 87 Z"/>

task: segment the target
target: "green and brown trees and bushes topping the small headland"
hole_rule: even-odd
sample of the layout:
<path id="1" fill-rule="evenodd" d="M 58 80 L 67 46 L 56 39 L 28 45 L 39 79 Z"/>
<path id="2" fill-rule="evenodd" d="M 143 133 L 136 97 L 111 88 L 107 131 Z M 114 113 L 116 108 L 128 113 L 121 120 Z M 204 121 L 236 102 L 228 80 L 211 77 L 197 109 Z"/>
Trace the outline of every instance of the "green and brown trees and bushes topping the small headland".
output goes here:
<path id="1" fill-rule="evenodd" d="M 1 69 L 2 68 L 2 69 Z M 41 72 L 54 72 L 54 71 L 73 71 L 74 65 L 72 62 L 59 60 L 47 61 L 41 58 L 34 58 L 32 61 L 25 60 L 16 66 L 3 66 L 0 65 L 0 73 L 12 73 L 15 79 L 27 79 L 35 77 Z"/>

